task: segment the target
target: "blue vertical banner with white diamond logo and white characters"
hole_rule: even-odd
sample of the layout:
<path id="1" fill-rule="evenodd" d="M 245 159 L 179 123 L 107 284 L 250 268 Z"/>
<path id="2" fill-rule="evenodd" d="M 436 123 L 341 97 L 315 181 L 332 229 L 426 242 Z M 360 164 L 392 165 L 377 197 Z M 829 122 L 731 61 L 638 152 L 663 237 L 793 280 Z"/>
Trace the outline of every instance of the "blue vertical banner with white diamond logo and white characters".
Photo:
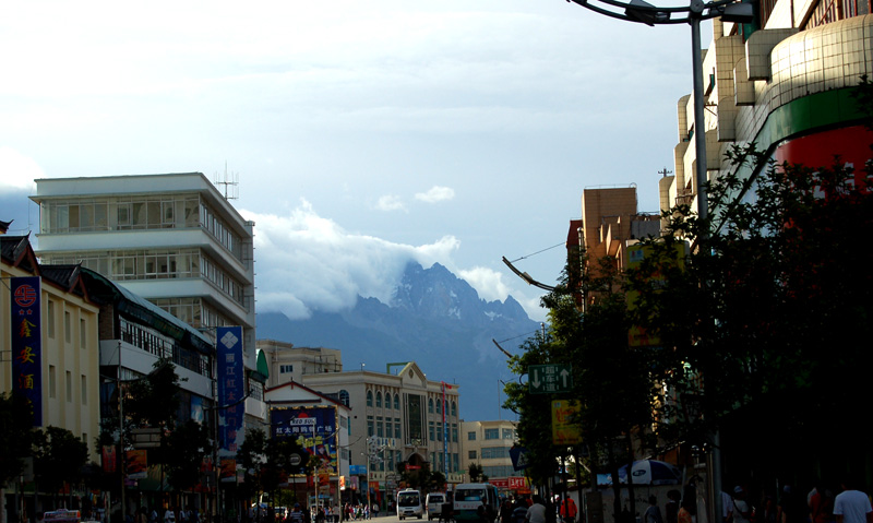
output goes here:
<path id="1" fill-rule="evenodd" d="M 218 362 L 218 453 L 236 455 L 243 440 L 246 416 L 246 366 L 242 359 L 242 328 L 219 326 L 216 332 Z"/>

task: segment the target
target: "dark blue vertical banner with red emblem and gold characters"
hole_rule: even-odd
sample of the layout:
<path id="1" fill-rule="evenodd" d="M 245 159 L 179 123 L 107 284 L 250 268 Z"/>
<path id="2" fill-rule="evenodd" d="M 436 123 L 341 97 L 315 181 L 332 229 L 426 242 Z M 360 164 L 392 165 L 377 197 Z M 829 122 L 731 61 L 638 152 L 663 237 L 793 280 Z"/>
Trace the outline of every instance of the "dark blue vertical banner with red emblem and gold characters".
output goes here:
<path id="1" fill-rule="evenodd" d="M 39 276 L 12 278 L 12 391 L 31 407 L 34 427 L 43 426 L 43 326 Z"/>

